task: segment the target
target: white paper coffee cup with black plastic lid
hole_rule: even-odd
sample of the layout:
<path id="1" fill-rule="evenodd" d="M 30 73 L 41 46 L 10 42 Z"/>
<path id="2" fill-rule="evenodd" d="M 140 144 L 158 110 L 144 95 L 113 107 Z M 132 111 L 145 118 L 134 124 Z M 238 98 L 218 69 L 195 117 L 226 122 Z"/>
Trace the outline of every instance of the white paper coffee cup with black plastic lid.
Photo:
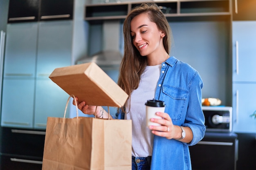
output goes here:
<path id="1" fill-rule="evenodd" d="M 163 112 L 165 109 L 165 104 L 160 100 L 147 100 L 146 105 L 146 126 L 160 126 L 160 124 L 150 121 L 151 118 L 162 119 L 162 117 L 157 116 L 157 112 Z"/>

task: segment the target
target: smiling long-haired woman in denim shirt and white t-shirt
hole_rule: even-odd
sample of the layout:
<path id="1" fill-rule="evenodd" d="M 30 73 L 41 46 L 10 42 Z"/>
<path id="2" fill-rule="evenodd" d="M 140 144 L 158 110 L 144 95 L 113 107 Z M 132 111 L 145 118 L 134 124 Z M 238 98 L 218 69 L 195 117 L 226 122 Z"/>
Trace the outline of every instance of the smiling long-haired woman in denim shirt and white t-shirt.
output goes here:
<path id="1" fill-rule="evenodd" d="M 204 137 L 202 79 L 169 56 L 170 46 L 171 29 L 156 4 L 141 4 L 127 15 L 118 84 L 129 98 L 118 118 L 132 120 L 132 170 L 191 170 L 189 146 Z M 144 104 L 153 98 L 165 102 L 165 113 L 150 119 L 161 126 L 146 127 Z M 78 108 L 95 113 L 85 102 Z M 108 117 L 102 107 L 96 115 Z"/>

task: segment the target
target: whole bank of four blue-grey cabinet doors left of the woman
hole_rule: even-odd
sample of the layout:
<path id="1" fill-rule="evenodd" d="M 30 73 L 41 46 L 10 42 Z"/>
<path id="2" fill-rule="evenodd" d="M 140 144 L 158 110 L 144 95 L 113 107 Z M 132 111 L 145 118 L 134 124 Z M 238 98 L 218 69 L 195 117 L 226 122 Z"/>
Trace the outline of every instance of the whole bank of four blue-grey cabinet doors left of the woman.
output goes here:
<path id="1" fill-rule="evenodd" d="M 47 117 L 63 117 L 68 95 L 48 76 L 54 68 L 71 65 L 72 23 L 8 24 L 2 126 L 45 129 Z"/>

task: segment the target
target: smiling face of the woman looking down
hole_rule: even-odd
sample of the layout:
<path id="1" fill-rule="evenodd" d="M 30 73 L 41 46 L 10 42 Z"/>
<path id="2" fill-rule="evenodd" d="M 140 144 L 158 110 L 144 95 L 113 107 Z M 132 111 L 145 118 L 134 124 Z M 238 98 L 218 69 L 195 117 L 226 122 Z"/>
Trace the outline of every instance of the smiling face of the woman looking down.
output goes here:
<path id="1" fill-rule="evenodd" d="M 155 22 L 151 22 L 148 14 L 141 13 L 130 22 L 130 34 L 132 43 L 142 56 L 157 54 L 159 46 L 163 46 L 164 33 L 157 28 Z"/>

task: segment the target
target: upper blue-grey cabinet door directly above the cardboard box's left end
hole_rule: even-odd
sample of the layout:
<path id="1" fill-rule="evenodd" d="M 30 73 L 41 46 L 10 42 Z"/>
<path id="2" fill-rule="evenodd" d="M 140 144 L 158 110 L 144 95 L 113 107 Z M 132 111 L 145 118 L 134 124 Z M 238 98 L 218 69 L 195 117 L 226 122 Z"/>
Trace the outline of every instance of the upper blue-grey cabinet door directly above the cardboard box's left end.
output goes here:
<path id="1" fill-rule="evenodd" d="M 37 77 L 48 77 L 55 68 L 70 66 L 72 20 L 40 22 Z"/>

